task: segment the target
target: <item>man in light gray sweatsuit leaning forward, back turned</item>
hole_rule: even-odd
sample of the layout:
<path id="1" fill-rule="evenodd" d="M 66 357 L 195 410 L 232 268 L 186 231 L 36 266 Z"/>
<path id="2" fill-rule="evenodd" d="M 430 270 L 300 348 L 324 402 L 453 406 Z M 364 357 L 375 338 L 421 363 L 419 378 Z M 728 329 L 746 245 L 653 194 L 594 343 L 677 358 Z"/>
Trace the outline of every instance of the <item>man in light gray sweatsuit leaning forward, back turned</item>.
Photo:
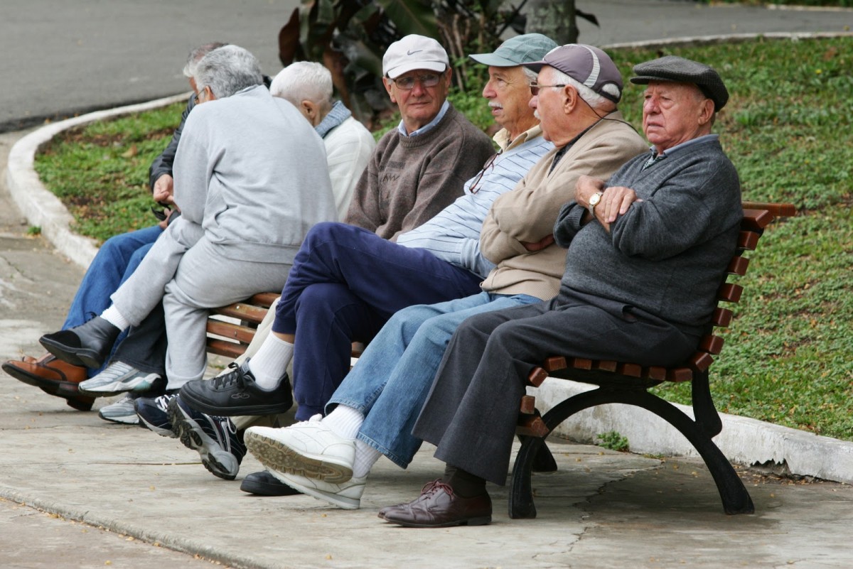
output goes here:
<path id="1" fill-rule="evenodd" d="M 166 387 L 200 378 L 207 309 L 281 288 L 308 229 L 336 219 L 320 137 L 293 105 L 270 95 L 252 54 L 213 50 L 200 60 L 196 84 L 198 106 L 175 158 L 182 216 L 101 316 L 41 338 L 57 358 L 100 365 L 119 331 L 162 300 Z"/>

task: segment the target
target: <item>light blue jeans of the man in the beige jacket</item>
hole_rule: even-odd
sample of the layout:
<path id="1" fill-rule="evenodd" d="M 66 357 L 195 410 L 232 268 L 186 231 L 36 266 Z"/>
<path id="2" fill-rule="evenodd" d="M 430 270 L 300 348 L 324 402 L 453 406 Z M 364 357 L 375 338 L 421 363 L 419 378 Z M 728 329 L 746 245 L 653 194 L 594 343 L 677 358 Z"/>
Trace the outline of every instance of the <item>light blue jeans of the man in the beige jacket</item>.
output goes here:
<path id="1" fill-rule="evenodd" d="M 449 302 L 415 305 L 394 314 L 329 399 L 365 415 L 358 440 L 406 468 L 421 446 L 412 428 L 456 327 L 473 314 L 540 299 L 481 292 Z"/>

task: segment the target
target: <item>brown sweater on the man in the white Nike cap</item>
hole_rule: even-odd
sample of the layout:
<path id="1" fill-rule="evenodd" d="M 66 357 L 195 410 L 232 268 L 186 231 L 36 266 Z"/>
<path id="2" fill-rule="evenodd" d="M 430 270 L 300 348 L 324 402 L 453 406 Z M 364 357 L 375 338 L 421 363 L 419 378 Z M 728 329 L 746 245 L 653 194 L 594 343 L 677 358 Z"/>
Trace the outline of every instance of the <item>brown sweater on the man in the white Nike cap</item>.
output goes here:
<path id="1" fill-rule="evenodd" d="M 465 181 L 494 153 L 489 137 L 453 106 L 423 135 L 393 129 L 376 145 L 346 222 L 396 239 L 461 196 Z"/>

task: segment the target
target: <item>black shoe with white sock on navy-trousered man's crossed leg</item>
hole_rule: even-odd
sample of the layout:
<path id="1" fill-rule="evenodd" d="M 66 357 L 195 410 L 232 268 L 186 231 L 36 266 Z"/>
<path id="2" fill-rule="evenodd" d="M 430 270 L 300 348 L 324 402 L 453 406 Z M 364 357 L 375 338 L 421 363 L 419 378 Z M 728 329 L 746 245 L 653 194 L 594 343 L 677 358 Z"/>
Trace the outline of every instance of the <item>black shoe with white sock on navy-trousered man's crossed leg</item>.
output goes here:
<path id="1" fill-rule="evenodd" d="M 181 399 L 202 413 L 220 417 L 277 415 L 293 406 L 287 373 L 281 377 L 277 388 L 267 391 L 255 382 L 248 359 L 243 365 L 231 363 L 229 367 L 232 371 L 210 381 L 199 379 L 185 383 Z"/>

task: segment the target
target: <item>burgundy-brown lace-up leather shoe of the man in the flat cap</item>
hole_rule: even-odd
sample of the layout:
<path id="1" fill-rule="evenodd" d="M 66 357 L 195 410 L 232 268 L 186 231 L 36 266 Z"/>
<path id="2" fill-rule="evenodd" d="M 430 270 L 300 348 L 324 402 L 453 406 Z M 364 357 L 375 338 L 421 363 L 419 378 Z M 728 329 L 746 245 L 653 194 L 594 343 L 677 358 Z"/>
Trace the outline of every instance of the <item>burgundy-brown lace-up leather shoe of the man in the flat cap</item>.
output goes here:
<path id="1" fill-rule="evenodd" d="M 491 523 L 488 494 L 461 497 L 449 485 L 435 480 L 414 501 L 383 508 L 385 520 L 406 527 L 485 526 Z"/>

